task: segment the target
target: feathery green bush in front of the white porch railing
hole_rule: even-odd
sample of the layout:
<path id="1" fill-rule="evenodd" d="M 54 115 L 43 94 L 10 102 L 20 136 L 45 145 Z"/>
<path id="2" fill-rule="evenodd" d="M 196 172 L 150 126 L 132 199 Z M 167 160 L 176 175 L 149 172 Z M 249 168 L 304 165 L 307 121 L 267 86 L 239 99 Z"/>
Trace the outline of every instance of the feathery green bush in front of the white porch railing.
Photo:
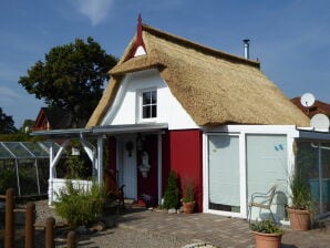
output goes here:
<path id="1" fill-rule="evenodd" d="M 97 184 L 91 188 L 74 188 L 69 180 L 66 187 L 58 194 L 54 204 L 55 213 L 64 218 L 70 226 L 90 225 L 103 214 L 105 190 Z"/>

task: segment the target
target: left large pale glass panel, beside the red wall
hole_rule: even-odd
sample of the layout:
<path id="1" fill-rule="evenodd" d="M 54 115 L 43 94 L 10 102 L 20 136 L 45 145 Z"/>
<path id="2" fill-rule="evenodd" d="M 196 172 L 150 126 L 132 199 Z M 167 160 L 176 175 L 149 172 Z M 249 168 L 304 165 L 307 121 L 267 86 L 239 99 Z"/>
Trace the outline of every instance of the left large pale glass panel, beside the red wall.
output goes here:
<path id="1" fill-rule="evenodd" d="M 238 136 L 208 136 L 209 209 L 240 211 Z"/>

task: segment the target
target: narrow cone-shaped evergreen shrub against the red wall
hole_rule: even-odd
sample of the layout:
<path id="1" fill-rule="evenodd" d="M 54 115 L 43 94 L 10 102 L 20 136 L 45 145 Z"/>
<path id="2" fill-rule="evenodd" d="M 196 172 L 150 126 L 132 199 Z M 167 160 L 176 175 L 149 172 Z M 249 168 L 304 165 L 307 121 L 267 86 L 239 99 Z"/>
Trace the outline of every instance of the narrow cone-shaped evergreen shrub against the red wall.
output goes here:
<path id="1" fill-rule="evenodd" d="M 175 208 L 179 206 L 179 190 L 177 186 L 177 176 L 175 172 L 171 170 L 167 186 L 164 194 L 164 208 Z"/>

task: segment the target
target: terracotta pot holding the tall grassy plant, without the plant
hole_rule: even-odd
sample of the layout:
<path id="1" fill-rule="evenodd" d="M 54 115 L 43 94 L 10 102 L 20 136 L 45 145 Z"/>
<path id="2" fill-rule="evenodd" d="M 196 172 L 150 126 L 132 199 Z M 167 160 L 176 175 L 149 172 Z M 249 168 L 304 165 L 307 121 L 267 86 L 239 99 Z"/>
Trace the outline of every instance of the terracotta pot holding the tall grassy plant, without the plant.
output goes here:
<path id="1" fill-rule="evenodd" d="M 287 208 L 292 230 L 309 230 L 310 211 L 295 208 Z"/>

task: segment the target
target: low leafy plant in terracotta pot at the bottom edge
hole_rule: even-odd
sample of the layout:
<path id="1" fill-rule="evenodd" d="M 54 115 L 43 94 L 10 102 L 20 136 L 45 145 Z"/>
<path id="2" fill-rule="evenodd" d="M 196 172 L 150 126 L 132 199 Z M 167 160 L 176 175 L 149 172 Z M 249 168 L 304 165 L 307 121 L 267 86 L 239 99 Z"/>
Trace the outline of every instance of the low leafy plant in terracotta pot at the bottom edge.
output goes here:
<path id="1" fill-rule="evenodd" d="M 274 221 L 267 219 L 256 221 L 250 225 L 250 229 L 255 236 L 256 248 L 279 248 L 283 230 Z"/>

